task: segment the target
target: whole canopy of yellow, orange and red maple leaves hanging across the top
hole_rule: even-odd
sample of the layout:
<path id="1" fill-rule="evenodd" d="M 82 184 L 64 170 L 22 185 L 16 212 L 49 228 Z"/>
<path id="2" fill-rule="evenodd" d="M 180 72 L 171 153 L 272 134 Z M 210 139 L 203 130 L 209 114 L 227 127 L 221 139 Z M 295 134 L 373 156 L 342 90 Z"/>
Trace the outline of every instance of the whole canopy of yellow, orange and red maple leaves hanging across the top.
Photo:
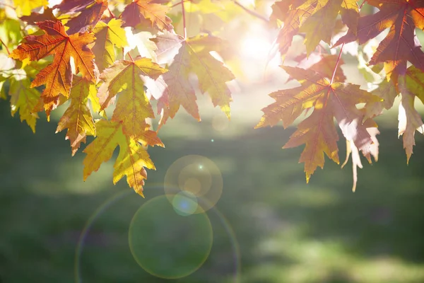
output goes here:
<path id="1" fill-rule="evenodd" d="M 146 147 L 164 146 L 160 128 L 180 108 L 201 120 L 192 76 L 199 92 L 230 118 L 228 82 L 235 75 L 213 56 L 226 54 L 229 45 L 213 28 L 194 33 L 188 14 L 227 20 L 247 15 L 278 29 L 275 43 L 282 67 L 300 86 L 271 93 L 276 102 L 263 109 L 257 127 L 278 122 L 289 127 L 306 114 L 284 148 L 305 144 L 300 162 L 305 163 L 307 182 L 317 167 L 324 167 L 324 154 L 339 163 L 338 128 L 346 139 L 346 161 L 352 155 L 355 190 L 356 170 L 363 167 L 359 152 L 367 161 L 371 156 L 377 161 L 379 131 L 374 119 L 393 107 L 396 96 L 401 96 L 399 135 L 407 161 L 416 130 L 423 133 L 414 108 L 416 97 L 424 101 L 424 53 L 416 36 L 416 28 L 424 29 L 423 0 L 367 0 L 360 6 L 353 0 L 283 0 L 273 4 L 269 18 L 232 0 L 48 4 L 0 4 L 0 97 L 10 97 L 11 114 L 19 112 L 33 132 L 39 112 L 49 120 L 52 111 L 67 103 L 57 132 L 66 129 L 71 154 L 88 136 L 94 137 L 83 149 L 84 179 L 119 146 L 113 183 L 126 176 L 129 186 L 143 195 L 146 168 L 155 169 Z M 305 52 L 288 58 L 298 37 Z M 369 91 L 346 82 L 341 69 L 344 50 L 352 44 Z M 375 49 L 365 52 L 370 44 Z M 312 60 L 312 55 L 319 59 Z M 290 67 L 285 64 L 288 59 L 307 68 Z M 153 130 L 148 121 L 155 117 L 160 122 Z"/>

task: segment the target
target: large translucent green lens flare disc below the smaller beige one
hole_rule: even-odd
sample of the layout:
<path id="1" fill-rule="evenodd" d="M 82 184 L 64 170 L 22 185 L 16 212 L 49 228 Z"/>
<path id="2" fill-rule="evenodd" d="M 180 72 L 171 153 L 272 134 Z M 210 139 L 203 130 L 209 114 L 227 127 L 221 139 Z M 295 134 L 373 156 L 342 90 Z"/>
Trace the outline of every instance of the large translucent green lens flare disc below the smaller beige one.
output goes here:
<path id="1" fill-rule="evenodd" d="M 179 197 L 189 200 L 187 195 Z M 137 210 L 129 226 L 129 247 L 143 270 L 178 279 L 204 264 L 213 243 L 211 221 L 205 213 L 187 212 L 175 209 L 165 196 L 148 200 Z"/>

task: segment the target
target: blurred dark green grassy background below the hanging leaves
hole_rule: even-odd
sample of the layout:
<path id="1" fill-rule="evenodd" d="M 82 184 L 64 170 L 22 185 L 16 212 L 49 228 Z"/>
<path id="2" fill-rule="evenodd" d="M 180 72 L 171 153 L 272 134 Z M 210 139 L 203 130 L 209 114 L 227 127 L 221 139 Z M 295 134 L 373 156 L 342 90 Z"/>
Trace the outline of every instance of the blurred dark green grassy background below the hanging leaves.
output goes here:
<path id="1" fill-rule="evenodd" d="M 149 149 L 157 171 L 148 171 L 146 199 L 124 180 L 112 185 L 116 152 L 83 182 L 85 154 L 71 157 L 65 133 L 54 134 L 63 109 L 49 123 L 41 117 L 33 134 L 2 101 L 0 282 L 424 282 L 423 137 L 407 166 L 396 110 L 389 112 L 378 121 L 379 161 L 364 163 L 355 193 L 351 163 L 342 170 L 327 159 L 306 184 L 302 148 L 281 149 L 294 128 L 253 129 L 271 101 L 266 93 L 278 87 L 242 87 L 230 122 L 207 99 L 199 102 L 200 123 L 179 112 L 161 129 L 165 149 Z M 343 160 L 342 139 L 339 149 Z M 131 255 L 129 225 L 142 204 L 163 195 L 167 168 L 190 154 L 210 158 L 223 176 L 223 194 L 206 213 L 213 234 L 206 218 L 184 226 L 169 209 L 146 212 L 153 220 L 139 222 L 138 233 L 146 233 L 146 257 L 163 275 L 168 265 L 190 268 L 194 245 L 207 246 L 210 236 L 213 243 L 196 272 L 161 279 Z M 172 247 L 188 252 L 172 262 Z"/>

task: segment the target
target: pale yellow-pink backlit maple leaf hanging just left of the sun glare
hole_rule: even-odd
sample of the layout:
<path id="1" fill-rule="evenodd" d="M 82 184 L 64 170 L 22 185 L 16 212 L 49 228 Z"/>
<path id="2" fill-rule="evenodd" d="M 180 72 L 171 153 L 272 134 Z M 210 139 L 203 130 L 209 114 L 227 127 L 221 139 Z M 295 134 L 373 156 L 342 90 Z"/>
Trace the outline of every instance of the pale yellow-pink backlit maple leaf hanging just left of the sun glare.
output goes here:
<path id="1" fill-rule="evenodd" d="M 226 82 L 235 77 L 222 62 L 210 54 L 211 51 L 222 49 L 222 40 L 208 35 L 184 40 L 178 35 L 165 33 L 158 35 L 153 41 L 158 46 L 158 62 L 162 57 L 169 57 L 169 54 L 177 52 L 168 67 L 169 71 L 163 75 L 167 87 L 158 103 L 158 112 L 163 112 L 161 125 L 165 124 L 168 117 L 175 117 L 180 106 L 196 120 L 200 120 L 196 94 L 189 82 L 190 74 L 197 76 L 201 93 L 208 93 L 213 105 L 219 106 L 229 118 L 232 98 Z"/>

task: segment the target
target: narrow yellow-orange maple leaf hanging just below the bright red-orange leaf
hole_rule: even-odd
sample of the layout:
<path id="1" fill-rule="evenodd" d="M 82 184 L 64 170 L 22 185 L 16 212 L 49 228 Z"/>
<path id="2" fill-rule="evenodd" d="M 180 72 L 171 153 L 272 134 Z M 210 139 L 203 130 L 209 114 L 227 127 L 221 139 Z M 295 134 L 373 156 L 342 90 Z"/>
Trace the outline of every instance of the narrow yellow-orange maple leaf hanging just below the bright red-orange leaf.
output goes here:
<path id="1" fill-rule="evenodd" d="M 86 142 L 86 136 L 95 136 L 93 116 L 88 106 L 88 99 L 98 100 L 95 96 L 97 90 L 95 84 L 87 79 L 73 76 L 73 86 L 71 89 L 71 104 L 60 118 L 56 132 L 68 129 L 66 138 L 71 141 L 72 156 L 78 151 L 81 142 Z"/>

